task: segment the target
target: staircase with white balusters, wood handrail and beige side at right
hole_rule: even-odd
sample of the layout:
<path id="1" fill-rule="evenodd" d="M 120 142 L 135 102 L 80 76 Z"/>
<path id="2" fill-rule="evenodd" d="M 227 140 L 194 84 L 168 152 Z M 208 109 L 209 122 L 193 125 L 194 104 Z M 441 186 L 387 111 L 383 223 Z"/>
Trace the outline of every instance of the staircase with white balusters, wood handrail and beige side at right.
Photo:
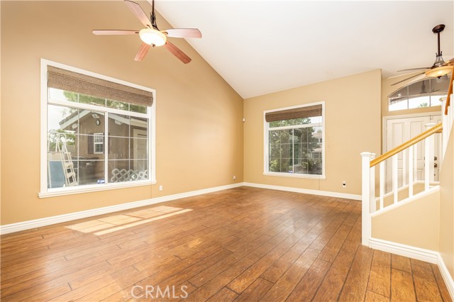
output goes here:
<path id="1" fill-rule="evenodd" d="M 441 106 L 442 123 L 426 125 L 425 132 L 378 157 L 361 153 L 362 245 L 438 264 L 452 298 L 453 80 L 454 75 Z M 434 179 L 436 147 L 442 150 L 439 164 L 445 162 L 441 174 L 447 175 L 441 184 Z"/>

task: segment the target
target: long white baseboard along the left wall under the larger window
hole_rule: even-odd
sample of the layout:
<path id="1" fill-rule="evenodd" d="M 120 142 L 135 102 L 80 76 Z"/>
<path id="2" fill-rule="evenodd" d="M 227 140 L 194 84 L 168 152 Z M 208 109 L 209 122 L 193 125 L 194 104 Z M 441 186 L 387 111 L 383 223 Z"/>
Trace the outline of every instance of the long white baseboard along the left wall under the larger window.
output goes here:
<path id="1" fill-rule="evenodd" d="M 106 206 L 104 208 L 94 208 L 92 210 L 87 210 L 87 211 L 80 211 L 80 212 L 68 213 L 68 214 L 63 214 L 63 215 L 58 215 L 58 216 L 51 216 L 51 217 L 40 218 L 40 219 L 35 219 L 35 220 L 28 220 L 28 221 L 23 221 L 20 223 L 11 223 L 8 225 L 0 225 L 0 234 L 3 235 L 3 234 L 8 234 L 8 233 L 18 232 L 21 230 L 29 230 L 31 228 L 40 228 L 45 225 L 53 225 L 55 223 L 65 223 L 65 222 L 71 221 L 71 220 L 77 220 L 77 219 L 81 219 L 81 218 L 87 218 L 87 217 L 98 216 L 98 215 L 117 212 L 117 211 L 128 210 L 130 208 L 139 208 L 140 206 L 150 206 L 154 203 L 161 203 L 161 202 L 165 202 L 165 201 L 172 201 L 172 200 L 179 199 L 179 198 L 186 198 L 186 197 L 207 194 L 207 193 L 212 193 L 212 192 L 226 190 L 226 189 L 232 189 L 232 188 L 236 188 L 238 186 L 243 186 L 243 182 L 240 182 L 238 184 L 228 184 L 226 186 L 215 186 L 213 188 L 189 191 L 189 192 L 180 193 L 180 194 L 173 194 L 173 195 L 167 195 L 167 196 L 162 196 L 162 197 L 150 198 L 150 199 L 145 199 L 143 201 L 133 201 L 130 203 L 121 203 L 116 206 Z"/>

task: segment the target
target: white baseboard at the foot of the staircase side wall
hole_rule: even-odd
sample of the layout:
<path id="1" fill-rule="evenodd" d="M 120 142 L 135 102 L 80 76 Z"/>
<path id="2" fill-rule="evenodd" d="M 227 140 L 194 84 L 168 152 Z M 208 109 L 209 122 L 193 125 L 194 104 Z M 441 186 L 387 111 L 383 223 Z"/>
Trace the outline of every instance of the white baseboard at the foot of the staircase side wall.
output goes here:
<path id="1" fill-rule="evenodd" d="M 454 281 L 453 276 L 450 275 L 448 268 L 443 261 L 439 252 L 433 250 L 424 250 L 419 247 L 412 247 L 410 245 L 402 245 L 400 243 L 391 242 L 387 240 L 381 240 L 377 238 L 369 238 L 369 246 L 375 250 L 381 250 L 383 252 L 390 252 L 392 254 L 401 255 L 413 259 L 418 259 L 425 262 L 437 264 L 440 269 L 441 276 L 445 281 L 446 287 L 448 288 L 451 299 L 454 301 Z"/>

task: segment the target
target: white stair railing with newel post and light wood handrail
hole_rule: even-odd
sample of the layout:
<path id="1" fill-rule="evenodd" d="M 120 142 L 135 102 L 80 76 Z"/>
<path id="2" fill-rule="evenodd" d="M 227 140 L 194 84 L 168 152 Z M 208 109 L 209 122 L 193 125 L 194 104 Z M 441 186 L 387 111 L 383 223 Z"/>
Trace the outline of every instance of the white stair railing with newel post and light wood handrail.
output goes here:
<path id="1" fill-rule="evenodd" d="M 434 135 L 441 133 L 443 123 L 433 126 L 420 135 L 404 142 L 375 158 L 375 153 L 362 152 L 362 245 L 369 245 L 372 235 L 372 216 L 394 208 L 400 201 L 423 194 L 436 185 L 434 181 Z M 421 167 L 424 150 L 423 169 Z M 390 161 L 390 163 L 389 163 Z M 375 196 L 375 166 L 379 165 L 379 195 Z M 391 179 L 386 177 L 391 169 Z M 399 171 L 400 170 L 400 171 Z M 421 173 L 422 171 L 423 173 Z M 400 172 L 400 173 L 399 173 Z"/>

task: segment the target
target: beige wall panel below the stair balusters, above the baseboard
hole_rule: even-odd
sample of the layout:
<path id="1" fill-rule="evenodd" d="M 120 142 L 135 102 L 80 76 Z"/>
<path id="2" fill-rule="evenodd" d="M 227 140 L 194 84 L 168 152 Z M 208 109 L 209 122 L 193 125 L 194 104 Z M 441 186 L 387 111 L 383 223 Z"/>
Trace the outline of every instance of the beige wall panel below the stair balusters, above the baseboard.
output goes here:
<path id="1" fill-rule="evenodd" d="M 440 192 L 436 191 L 372 217 L 372 237 L 436 251 L 439 215 Z"/>

